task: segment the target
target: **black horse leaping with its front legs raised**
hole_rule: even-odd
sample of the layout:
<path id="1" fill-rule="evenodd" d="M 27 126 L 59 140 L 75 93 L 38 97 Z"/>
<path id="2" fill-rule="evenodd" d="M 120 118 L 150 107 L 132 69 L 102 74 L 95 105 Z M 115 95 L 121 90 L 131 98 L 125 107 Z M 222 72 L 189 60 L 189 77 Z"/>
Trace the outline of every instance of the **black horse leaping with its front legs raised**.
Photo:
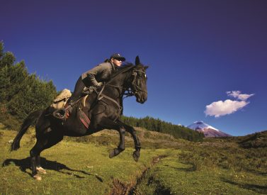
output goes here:
<path id="1" fill-rule="evenodd" d="M 123 114 L 123 99 L 126 96 L 135 96 L 136 101 L 144 104 L 147 101 L 147 74 L 148 66 L 142 65 L 140 58 L 135 58 L 135 65 L 129 63 L 113 73 L 103 87 L 94 89 L 81 106 L 81 100 L 76 102 L 72 113 L 65 121 L 53 116 L 56 109 L 48 106 L 46 109 L 30 113 L 23 121 L 21 129 L 11 145 L 12 150 L 18 150 L 20 140 L 29 126 L 35 123 L 35 145 L 30 150 L 30 165 L 34 179 L 41 180 L 38 172 L 46 173 L 40 165 L 40 153 L 59 143 L 64 136 L 81 137 L 91 135 L 103 129 L 117 130 L 120 142 L 109 157 L 115 157 L 125 150 L 125 131 L 132 135 L 135 151 L 132 157 L 137 162 L 140 157 L 140 140 L 135 128 L 120 121 Z M 126 96 L 125 96 L 126 95 Z M 81 116 L 87 117 L 90 123 L 86 126 Z M 89 119 L 90 118 L 90 119 Z M 86 121 L 86 119 L 84 119 Z M 88 124 L 88 123 L 87 123 Z"/>

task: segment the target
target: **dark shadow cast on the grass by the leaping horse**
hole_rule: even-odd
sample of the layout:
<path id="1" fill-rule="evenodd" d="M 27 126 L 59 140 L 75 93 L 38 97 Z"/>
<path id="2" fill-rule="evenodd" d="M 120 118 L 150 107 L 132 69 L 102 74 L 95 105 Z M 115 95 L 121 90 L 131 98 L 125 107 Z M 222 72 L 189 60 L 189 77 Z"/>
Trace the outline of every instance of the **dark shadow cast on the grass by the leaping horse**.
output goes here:
<path id="1" fill-rule="evenodd" d="M 103 182 L 103 179 L 101 179 L 101 177 L 99 177 L 96 174 L 91 174 L 88 172 L 84 172 L 81 170 L 76 170 L 76 169 L 71 169 L 69 167 L 67 167 L 66 165 L 56 162 L 56 161 L 50 161 L 50 160 L 46 160 L 44 157 L 40 157 L 40 161 L 41 161 L 41 165 L 42 168 L 44 169 L 50 169 L 50 170 L 54 170 L 56 172 L 61 172 L 62 174 L 69 174 L 72 175 L 76 178 L 82 179 L 84 177 L 80 176 L 79 174 L 74 174 L 73 172 L 79 172 L 82 174 L 87 174 L 90 176 L 95 176 L 96 179 L 98 179 L 99 182 Z M 26 169 L 31 169 L 30 167 L 30 157 L 18 160 L 18 159 L 6 159 L 3 163 L 2 163 L 2 167 L 6 167 L 8 165 L 16 165 L 18 166 L 22 172 L 25 172 L 27 174 L 29 174 L 31 176 L 31 174 L 29 172 L 26 172 Z"/>

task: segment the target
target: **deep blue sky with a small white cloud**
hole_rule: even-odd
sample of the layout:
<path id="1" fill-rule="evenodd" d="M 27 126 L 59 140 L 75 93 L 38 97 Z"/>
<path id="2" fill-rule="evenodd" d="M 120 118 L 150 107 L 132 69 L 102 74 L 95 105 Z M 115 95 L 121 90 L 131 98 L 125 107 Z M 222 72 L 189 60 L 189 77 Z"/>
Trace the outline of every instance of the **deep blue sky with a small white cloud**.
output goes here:
<path id="1" fill-rule="evenodd" d="M 28 72 L 74 90 L 115 52 L 147 69 L 148 99 L 124 115 L 267 130 L 265 0 L 0 0 L 0 40 Z"/>

